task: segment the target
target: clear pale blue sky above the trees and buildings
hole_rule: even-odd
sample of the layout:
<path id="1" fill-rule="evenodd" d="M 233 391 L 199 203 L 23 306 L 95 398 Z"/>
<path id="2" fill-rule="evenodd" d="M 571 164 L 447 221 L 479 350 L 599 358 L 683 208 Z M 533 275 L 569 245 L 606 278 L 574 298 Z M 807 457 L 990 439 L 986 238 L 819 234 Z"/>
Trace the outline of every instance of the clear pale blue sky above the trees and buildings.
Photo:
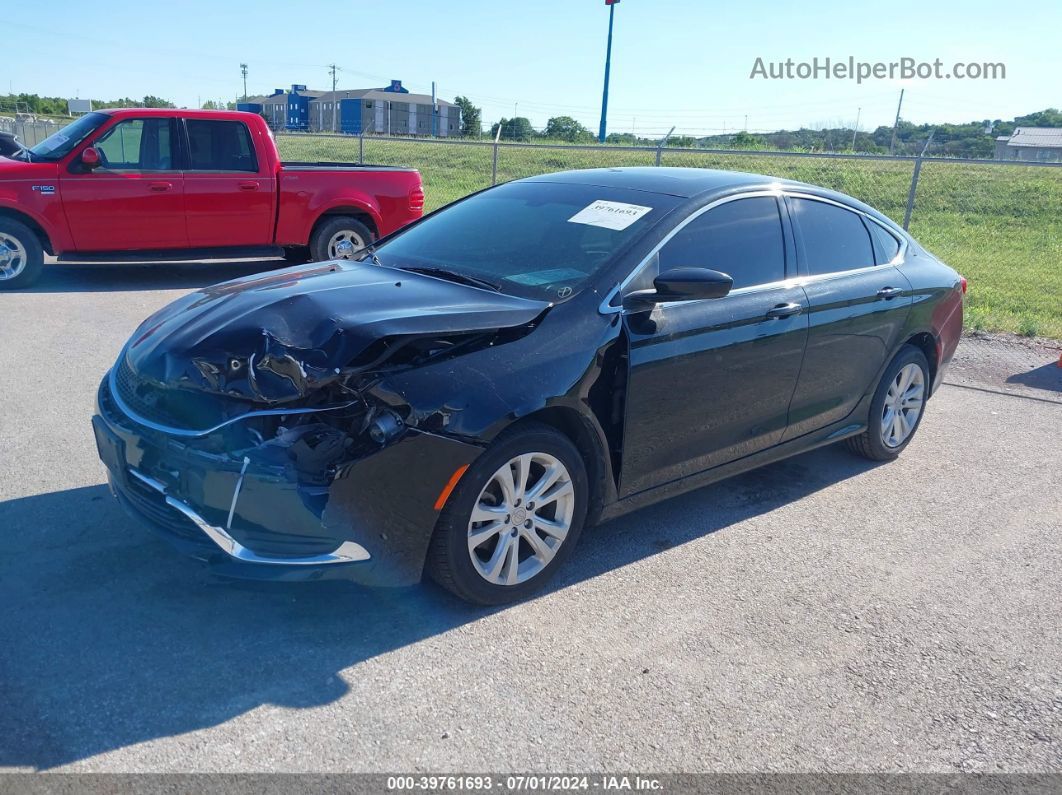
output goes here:
<path id="1" fill-rule="evenodd" d="M 413 91 L 483 107 L 487 124 L 515 111 L 536 126 L 568 115 L 597 129 L 607 10 L 604 0 L 53 0 L 10 3 L 0 91 L 165 97 L 194 106 L 242 91 L 304 83 L 341 88 L 400 79 Z M 616 10 L 610 132 L 776 129 L 903 117 L 941 122 L 1011 118 L 1062 105 L 1062 3 L 854 0 L 722 3 L 622 0 Z M 1006 80 L 750 80 L 765 61 L 1001 62 Z M 14 57 L 12 57 L 14 56 Z M 748 122 L 746 122 L 748 117 Z"/>

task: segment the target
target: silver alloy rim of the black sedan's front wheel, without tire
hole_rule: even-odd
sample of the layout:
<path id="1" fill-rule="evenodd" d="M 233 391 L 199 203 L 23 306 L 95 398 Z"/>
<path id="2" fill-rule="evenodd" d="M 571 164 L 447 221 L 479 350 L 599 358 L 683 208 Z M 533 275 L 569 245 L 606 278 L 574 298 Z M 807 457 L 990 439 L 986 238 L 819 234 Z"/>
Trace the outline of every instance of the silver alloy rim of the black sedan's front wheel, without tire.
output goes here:
<path id="1" fill-rule="evenodd" d="M 468 521 L 468 555 L 494 585 L 518 585 L 545 569 L 571 529 L 576 491 L 549 453 L 524 453 L 491 476 Z"/>

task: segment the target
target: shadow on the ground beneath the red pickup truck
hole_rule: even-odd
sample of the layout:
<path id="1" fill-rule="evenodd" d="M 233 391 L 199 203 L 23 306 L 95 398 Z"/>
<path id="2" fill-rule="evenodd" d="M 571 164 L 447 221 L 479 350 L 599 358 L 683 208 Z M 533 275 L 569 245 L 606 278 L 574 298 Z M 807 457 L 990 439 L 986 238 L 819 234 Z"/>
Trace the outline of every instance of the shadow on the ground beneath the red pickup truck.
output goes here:
<path id="1" fill-rule="evenodd" d="M 194 290 L 219 281 L 289 267 L 282 259 L 188 262 L 50 262 L 40 278 L 19 293 L 112 293 Z"/>

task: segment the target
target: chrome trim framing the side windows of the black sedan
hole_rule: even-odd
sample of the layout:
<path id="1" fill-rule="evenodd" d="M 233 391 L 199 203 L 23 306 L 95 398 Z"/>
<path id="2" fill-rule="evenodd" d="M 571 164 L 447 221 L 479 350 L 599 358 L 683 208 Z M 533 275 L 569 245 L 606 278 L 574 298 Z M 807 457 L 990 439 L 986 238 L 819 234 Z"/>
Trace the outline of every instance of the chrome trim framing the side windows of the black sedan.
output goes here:
<path id="1" fill-rule="evenodd" d="M 855 213 L 857 215 L 861 215 L 862 218 L 867 219 L 868 221 L 871 221 L 872 223 L 875 223 L 878 226 L 880 226 L 889 235 L 891 235 L 893 238 L 895 238 L 897 240 L 897 242 L 900 243 L 900 248 L 896 252 L 896 256 L 895 257 L 893 257 L 888 262 L 883 262 L 880 265 L 877 265 L 877 264 L 874 264 L 874 265 L 861 265 L 859 267 L 851 267 L 851 269 L 847 269 L 847 270 L 844 270 L 844 271 L 832 271 L 830 273 L 815 274 L 813 276 L 810 276 L 810 275 L 796 275 L 796 276 L 788 277 L 786 279 L 782 279 L 782 280 L 778 280 L 778 281 L 766 282 L 764 284 L 750 284 L 749 287 L 738 288 L 737 290 L 732 290 L 731 292 L 729 292 L 722 298 L 696 298 L 696 299 L 692 299 L 692 300 L 662 301 L 662 303 L 660 303 L 660 304 L 656 305 L 657 307 L 664 307 L 664 308 L 666 308 L 666 307 L 678 306 L 680 304 L 687 305 L 687 304 L 701 304 L 701 303 L 706 301 L 706 300 L 712 300 L 712 301 L 725 300 L 726 298 L 729 298 L 732 295 L 748 295 L 750 293 L 756 293 L 756 292 L 761 292 L 761 291 L 767 291 L 767 290 L 776 290 L 778 288 L 785 288 L 785 287 L 801 287 L 803 284 L 808 284 L 808 283 L 811 283 L 811 282 L 815 282 L 815 281 L 833 279 L 833 278 L 837 278 L 839 276 L 847 276 L 849 274 L 854 274 L 854 273 L 863 273 L 863 272 L 867 272 L 867 271 L 873 271 L 876 267 L 884 267 L 886 265 L 898 265 L 898 264 L 903 263 L 903 261 L 907 257 L 907 249 L 908 249 L 908 245 L 909 245 L 908 241 L 907 241 L 907 238 L 904 237 L 904 236 L 897 235 L 893 229 L 889 228 L 889 226 L 887 224 L 881 223 L 876 218 L 874 218 L 873 215 L 871 215 L 868 212 L 864 212 L 863 210 L 860 210 L 860 209 L 858 209 L 856 207 L 850 207 L 846 204 L 843 204 L 841 202 L 837 202 L 837 201 L 835 201 L 833 198 L 827 198 L 826 196 L 818 196 L 818 195 L 816 195 L 813 193 L 803 193 L 801 191 L 785 190 L 784 188 L 760 189 L 760 190 L 755 190 L 755 191 L 749 191 L 747 193 L 737 193 L 737 194 L 732 195 L 732 196 L 723 196 L 722 198 L 718 198 L 715 202 L 710 202 L 709 204 L 706 204 L 704 207 L 701 207 L 701 208 L 697 209 L 695 212 L 691 212 L 681 224 L 679 224 L 671 231 L 669 231 L 660 241 L 660 243 L 657 243 L 655 246 L 653 246 L 653 249 L 641 259 L 641 261 L 631 271 L 631 273 L 629 273 L 627 275 L 627 277 L 621 282 L 619 282 L 619 284 L 617 284 L 615 288 L 613 288 L 612 290 L 609 291 L 609 293 L 605 295 L 604 299 L 601 301 L 601 305 L 598 307 L 598 312 L 600 312 L 601 314 L 604 314 L 604 315 L 607 315 L 607 314 L 622 314 L 624 312 L 624 309 L 623 309 L 622 306 L 615 306 L 615 307 L 611 306 L 611 303 L 612 303 L 613 298 L 615 298 L 618 294 L 622 293 L 623 289 L 639 273 L 641 273 L 643 269 L 645 269 L 649 264 L 650 260 L 652 260 L 652 258 L 655 257 L 660 253 L 661 248 L 663 248 L 665 245 L 667 245 L 667 243 L 671 240 L 671 238 L 673 238 L 675 235 L 678 235 L 680 231 L 682 231 L 686 227 L 686 225 L 689 224 L 690 222 L 692 222 L 695 219 L 700 218 L 701 215 L 703 215 L 708 210 L 712 210 L 712 209 L 718 207 L 719 205 L 726 204 L 727 202 L 736 202 L 736 201 L 738 201 L 740 198 L 757 198 L 757 197 L 761 197 L 761 196 L 774 196 L 776 198 L 784 198 L 786 196 L 791 196 L 792 198 L 808 198 L 808 200 L 811 200 L 813 202 L 822 202 L 824 204 L 832 204 L 832 205 L 834 205 L 836 207 L 840 207 L 842 210 L 847 210 L 849 212 L 853 212 L 853 213 Z M 793 222 L 792 220 L 790 220 L 790 224 L 794 227 L 794 230 L 795 230 L 795 225 L 796 225 L 795 222 Z"/>

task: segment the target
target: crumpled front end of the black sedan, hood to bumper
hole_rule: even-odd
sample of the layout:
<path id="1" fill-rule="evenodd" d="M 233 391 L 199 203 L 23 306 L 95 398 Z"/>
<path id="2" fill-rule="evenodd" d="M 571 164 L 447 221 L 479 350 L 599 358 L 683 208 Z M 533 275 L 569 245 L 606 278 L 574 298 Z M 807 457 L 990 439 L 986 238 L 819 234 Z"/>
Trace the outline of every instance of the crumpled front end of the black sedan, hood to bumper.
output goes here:
<path id="1" fill-rule="evenodd" d="M 389 293 L 370 278 L 380 270 L 355 281 L 383 301 Z M 194 293 L 137 331 L 100 384 L 92 418 L 112 489 L 219 573 L 416 582 L 440 495 L 482 446 L 440 432 L 379 387 L 389 374 L 507 332 L 467 317 L 404 323 L 404 303 L 418 303 L 409 289 L 390 310 L 344 319 L 335 290 L 306 289 L 312 269 L 292 271 L 299 277 Z M 366 324 L 373 311 L 388 321 Z"/>

